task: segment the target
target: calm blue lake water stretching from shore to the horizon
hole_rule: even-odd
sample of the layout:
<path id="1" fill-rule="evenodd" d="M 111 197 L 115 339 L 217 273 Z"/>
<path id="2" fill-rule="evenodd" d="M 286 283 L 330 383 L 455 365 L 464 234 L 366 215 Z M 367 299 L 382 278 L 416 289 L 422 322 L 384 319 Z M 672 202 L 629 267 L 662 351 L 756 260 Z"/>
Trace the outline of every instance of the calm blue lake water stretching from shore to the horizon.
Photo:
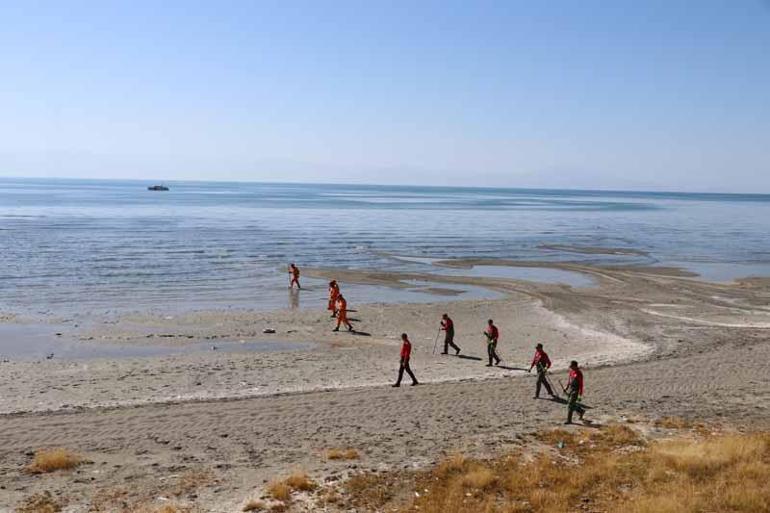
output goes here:
<path id="1" fill-rule="evenodd" d="M 0 312 L 316 307 L 324 283 L 288 293 L 290 261 L 446 272 L 392 255 L 679 265 L 720 280 L 770 275 L 770 195 L 147 185 L 0 179 Z M 581 249 L 597 247 L 635 251 Z M 353 305 L 443 297 L 417 286 L 343 286 Z"/>

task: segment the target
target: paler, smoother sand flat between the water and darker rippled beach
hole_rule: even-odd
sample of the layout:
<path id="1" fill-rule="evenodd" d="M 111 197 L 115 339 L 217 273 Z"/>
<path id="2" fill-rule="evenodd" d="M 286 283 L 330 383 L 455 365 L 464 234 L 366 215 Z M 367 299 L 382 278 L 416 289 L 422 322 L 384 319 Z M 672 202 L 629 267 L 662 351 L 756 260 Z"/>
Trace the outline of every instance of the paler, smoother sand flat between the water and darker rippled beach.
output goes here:
<path id="1" fill-rule="evenodd" d="M 503 294 L 500 299 L 458 300 L 416 304 L 353 304 L 357 334 L 331 334 L 325 310 L 193 311 L 168 316 L 146 312 L 94 321 L 63 333 L 69 343 L 93 347 L 194 347 L 195 351 L 141 358 L 14 360 L 2 363 L 0 385 L 13 393 L 0 400 L 0 414 L 18 411 L 135 406 L 179 401 L 262 397 L 316 390 L 376 387 L 392 380 L 398 334 L 410 333 L 415 345 L 414 365 L 421 381 L 430 383 L 495 379 L 522 373 L 531 346 L 542 341 L 554 360 L 554 369 L 578 359 L 588 368 L 646 361 L 676 354 L 684 339 L 665 333 L 668 324 L 694 324 L 698 329 L 764 329 L 770 312 L 759 305 L 741 306 L 753 288 L 764 290 L 764 280 L 715 284 L 691 279 L 678 270 L 648 267 L 606 267 L 584 264 L 518 262 L 498 259 L 440 261 L 455 267 L 497 265 L 551 267 L 594 277 L 593 287 L 573 288 L 505 278 L 427 275 L 379 271 L 308 269 L 315 278 L 336 277 L 343 283 L 388 286 L 406 279 L 435 278 L 444 284 L 486 287 Z M 690 304 L 664 301 L 666 289 L 689 290 Z M 638 289 L 629 294 L 626 289 Z M 660 290 L 659 290 L 660 289 Z M 729 304 L 715 304 L 714 291 L 732 294 Z M 648 301 L 643 295 L 651 295 Z M 635 297 L 639 296 L 639 297 Z M 761 296 L 761 294 L 760 294 Z M 698 319 L 693 310 L 710 304 L 713 315 Z M 622 308 L 621 308 L 622 306 Z M 612 318 L 601 311 L 612 310 Z M 752 309 L 757 318 L 747 322 Z M 725 312 L 725 309 L 728 309 Z M 475 362 L 442 361 L 431 355 L 438 319 L 450 311 L 459 321 L 457 341 Z M 668 312 L 675 311 L 676 314 Z M 455 312 L 461 312 L 457 317 Z M 599 315 L 598 315 L 599 314 Z M 717 317 L 718 316 L 718 317 Z M 487 317 L 501 326 L 500 352 L 504 372 L 482 368 L 485 351 L 478 334 Z M 741 321 L 737 322 L 736 317 Z M 644 319 L 642 321 L 642 319 Z M 714 319 L 717 319 L 716 321 Z M 761 320 L 760 320 L 761 319 Z M 731 320 L 731 322 L 726 322 Z M 611 321 L 611 322 L 608 322 Z M 266 328 L 275 333 L 263 333 Z M 681 329 L 682 326 L 679 326 Z M 312 344 L 310 349 L 264 352 L 201 351 L 203 344 Z M 470 346 L 469 346 L 470 344 Z M 440 341 L 439 341 L 439 345 Z M 686 344 L 685 344 L 686 345 Z M 440 351 L 440 349 L 439 349 Z M 396 362 L 394 364 L 394 362 Z M 43 378 L 39 378 L 40 374 Z M 34 379 L 30 376 L 35 376 Z"/>

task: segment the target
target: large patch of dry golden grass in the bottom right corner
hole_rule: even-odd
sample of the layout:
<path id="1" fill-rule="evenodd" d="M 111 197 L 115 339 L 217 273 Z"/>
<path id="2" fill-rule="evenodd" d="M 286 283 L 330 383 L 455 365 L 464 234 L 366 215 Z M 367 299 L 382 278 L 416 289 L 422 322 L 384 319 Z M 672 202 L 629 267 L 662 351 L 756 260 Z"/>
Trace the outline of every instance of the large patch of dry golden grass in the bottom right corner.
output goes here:
<path id="1" fill-rule="evenodd" d="M 432 471 L 417 473 L 407 488 L 410 493 L 402 494 L 393 510 L 770 512 L 768 433 L 647 443 L 627 426 L 618 425 L 555 431 L 540 438 L 551 449 L 534 459 L 509 455 L 479 461 L 452 455 Z M 355 486 L 346 485 L 348 494 L 371 494 L 370 489 L 377 490 L 383 476 L 358 479 Z M 362 485 L 366 489 L 361 490 Z M 385 492 L 392 497 L 397 493 L 393 487 L 405 486 L 402 480 Z M 360 510 L 373 509 L 384 508 Z"/>

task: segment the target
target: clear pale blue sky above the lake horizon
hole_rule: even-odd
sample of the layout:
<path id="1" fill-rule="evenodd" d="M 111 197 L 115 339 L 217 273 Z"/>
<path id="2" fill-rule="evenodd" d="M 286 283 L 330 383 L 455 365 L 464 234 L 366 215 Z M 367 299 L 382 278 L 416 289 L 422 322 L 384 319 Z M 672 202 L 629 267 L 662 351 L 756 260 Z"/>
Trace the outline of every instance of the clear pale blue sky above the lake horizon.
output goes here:
<path id="1" fill-rule="evenodd" d="M 0 0 L 0 176 L 770 192 L 770 2 Z"/>

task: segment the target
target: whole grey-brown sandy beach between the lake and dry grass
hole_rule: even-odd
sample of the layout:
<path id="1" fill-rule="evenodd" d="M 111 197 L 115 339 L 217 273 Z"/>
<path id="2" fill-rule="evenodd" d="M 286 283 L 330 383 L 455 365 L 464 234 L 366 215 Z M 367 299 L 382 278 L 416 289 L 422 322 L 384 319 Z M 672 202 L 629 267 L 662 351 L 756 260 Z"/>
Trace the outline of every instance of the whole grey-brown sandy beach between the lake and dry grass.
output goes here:
<path id="1" fill-rule="evenodd" d="M 54 354 L 0 364 L 0 511 L 42 490 L 63 498 L 67 511 L 88 511 L 96 496 L 117 488 L 128 489 L 126 503 L 162 502 L 164 482 L 186 472 L 206 472 L 213 484 L 183 501 L 200 511 L 239 511 L 268 480 L 294 468 L 334 480 L 361 469 L 427 465 L 451 450 L 483 455 L 520 445 L 565 415 L 561 404 L 532 399 L 534 378 L 526 369 L 537 342 L 554 360 L 554 381 L 565 379 L 569 360 L 586 367 L 586 402 L 595 421 L 682 416 L 770 423 L 768 280 L 710 283 L 653 267 L 443 263 L 492 264 L 577 272 L 595 284 L 306 269 L 307 276 L 343 284 L 430 279 L 446 288 L 489 287 L 505 297 L 351 302 L 357 334 L 331 332 L 324 305 L 266 313 L 147 312 L 39 327 L 62 343 L 211 348 L 146 358 Z M 455 321 L 463 358 L 432 354 L 443 312 Z M 6 324 L 24 322 L 10 314 Z M 501 331 L 499 368 L 482 361 L 488 318 Z M 414 343 L 412 367 L 424 385 L 393 390 L 401 332 Z M 254 342 L 280 349 L 221 350 Z M 93 464 L 67 474 L 23 472 L 32 451 L 60 446 Z M 354 447 L 362 456 L 330 462 L 323 451 L 332 447 Z"/>

